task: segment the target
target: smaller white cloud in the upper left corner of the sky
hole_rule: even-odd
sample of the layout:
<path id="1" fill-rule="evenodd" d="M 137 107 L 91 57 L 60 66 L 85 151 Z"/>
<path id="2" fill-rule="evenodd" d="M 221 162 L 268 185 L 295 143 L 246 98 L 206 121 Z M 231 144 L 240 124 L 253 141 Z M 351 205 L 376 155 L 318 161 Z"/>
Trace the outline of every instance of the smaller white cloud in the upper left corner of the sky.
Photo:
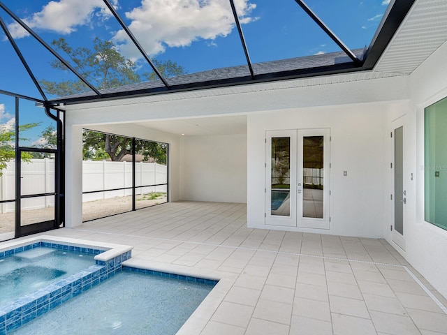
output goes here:
<path id="1" fill-rule="evenodd" d="M 117 0 L 112 1 L 115 5 Z M 112 15 L 101 0 L 60 0 L 50 1 L 38 13 L 22 18 L 31 29 L 71 34 L 77 27 L 89 24 L 92 15 L 102 20 Z M 14 38 L 28 36 L 28 32 L 17 22 L 8 26 Z"/>

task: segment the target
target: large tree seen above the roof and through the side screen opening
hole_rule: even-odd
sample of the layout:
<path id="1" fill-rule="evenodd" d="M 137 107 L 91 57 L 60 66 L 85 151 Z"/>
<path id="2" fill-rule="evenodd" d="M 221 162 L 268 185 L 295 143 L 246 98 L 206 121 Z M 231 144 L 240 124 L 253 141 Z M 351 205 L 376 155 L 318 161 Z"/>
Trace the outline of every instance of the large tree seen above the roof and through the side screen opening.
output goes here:
<path id="1" fill-rule="evenodd" d="M 140 82 L 141 78 L 146 80 L 157 80 L 156 73 L 143 73 L 141 76 L 136 73 L 137 66 L 130 59 L 126 59 L 117 50 L 117 47 L 108 40 L 94 39 L 93 50 L 87 47 L 73 49 L 64 38 L 53 40 L 52 45 L 60 52 L 64 52 L 71 60 L 72 66 L 98 89 L 108 89 L 126 84 Z M 51 64 L 52 68 L 67 70 L 64 64 L 55 60 Z M 173 61 L 158 61 L 154 59 L 154 65 L 163 77 L 173 77 L 184 75 L 186 70 L 183 66 L 177 65 Z M 50 82 L 41 80 L 41 85 L 48 94 L 56 96 L 69 96 L 89 91 L 81 80 L 65 80 L 61 82 Z M 129 137 L 96 133 L 85 131 L 83 154 L 85 159 L 102 160 L 107 154 L 112 161 L 120 161 L 126 154 L 131 154 L 131 139 Z M 166 163 L 166 154 L 163 158 L 163 144 L 151 142 L 144 150 L 148 156 L 156 161 Z M 141 148 L 143 149 L 143 148 Z"/>

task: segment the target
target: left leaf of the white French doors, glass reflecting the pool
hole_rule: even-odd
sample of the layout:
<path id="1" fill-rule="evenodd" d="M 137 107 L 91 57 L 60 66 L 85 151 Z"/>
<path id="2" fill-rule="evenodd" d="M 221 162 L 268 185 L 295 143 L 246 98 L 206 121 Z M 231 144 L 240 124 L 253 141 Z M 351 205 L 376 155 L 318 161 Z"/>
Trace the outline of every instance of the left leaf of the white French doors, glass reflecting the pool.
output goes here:
<path id="1" fill-rule="evenodd" d="M 296 227 L 296 131 L 266 135 L 265 222 Z"/>

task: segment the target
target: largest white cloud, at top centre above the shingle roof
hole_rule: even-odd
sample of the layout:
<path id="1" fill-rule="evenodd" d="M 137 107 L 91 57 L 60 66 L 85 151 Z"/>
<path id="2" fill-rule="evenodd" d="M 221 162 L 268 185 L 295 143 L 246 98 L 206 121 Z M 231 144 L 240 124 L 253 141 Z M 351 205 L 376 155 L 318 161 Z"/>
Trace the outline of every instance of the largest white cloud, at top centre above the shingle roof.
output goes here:
<path id="1" fill-rule="evenodd" d="M 256 8 L 249 0 L 235 0 L 235 6 L 241 23 L 256 20 L 249 17 Z M 166 47 L 186 47 L 194 40 L 227 36 L 235 26 L 228 0 L 142 0 L 126 17 L 131 20 L 129 28 L 151 55 Z M 112 39 L 126 57 L 140 57 L 124 31 L 117 31 Z"/>

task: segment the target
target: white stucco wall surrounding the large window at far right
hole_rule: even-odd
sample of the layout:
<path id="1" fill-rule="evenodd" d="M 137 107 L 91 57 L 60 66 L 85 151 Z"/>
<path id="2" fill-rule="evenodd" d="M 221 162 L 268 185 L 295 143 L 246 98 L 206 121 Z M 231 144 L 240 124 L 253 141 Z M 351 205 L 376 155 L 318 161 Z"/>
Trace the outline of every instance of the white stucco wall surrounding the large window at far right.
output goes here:
<path id="1" fill-rule="evenodd" d="M 408 119 L 413 135 L 408 144 L 412 155 L 407 163 L 416 179 L 411 184 L 411 202 L 406 206 L 406 250 L 401 251 L 444 297 L 447 297 L 447 231 L 424 221 L 424 108 L 447 96 L 446 59 L 447 43 L 410 76 Z"/>

